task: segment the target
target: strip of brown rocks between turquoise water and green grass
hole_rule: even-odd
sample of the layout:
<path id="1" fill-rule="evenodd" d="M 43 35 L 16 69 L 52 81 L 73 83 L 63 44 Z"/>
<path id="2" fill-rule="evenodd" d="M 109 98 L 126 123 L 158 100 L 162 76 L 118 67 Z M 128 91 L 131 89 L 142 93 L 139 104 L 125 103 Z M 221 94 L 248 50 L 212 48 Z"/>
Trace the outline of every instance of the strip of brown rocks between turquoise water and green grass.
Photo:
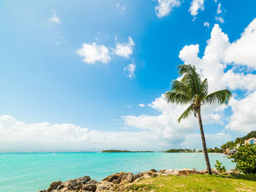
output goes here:
<path id="1" fill-rule="evenodd" d="M 220 174 L 217 169 L 211 169 L 213 174 Z M 239 173 L 237 170 L 231 169 L 224 174 Z M 111 174 L 105 177 L 102 181 L 97 182 L 91 180 L 89 176 L 79 177 L 74 180 L 67 180 L 65 182 L 55 181 L 50 184 L 50 187 L 46 190 L 38 192 L 113 192 L 113 191 L 125 191 L 122 185 L 127 183 L 134 183 L 138 180 L 149 177 L 157 177 L 159 175 L 189 175 L 189 174 L 208 174 L 205 169 L 203 171 L 196 171 L 195 169 L 163 169 L 159 172 L 155 169 L 151 169 L 148 172 L 140 172 L 140 174 L 132 174 L 131 172 L 119 172 Z"/>

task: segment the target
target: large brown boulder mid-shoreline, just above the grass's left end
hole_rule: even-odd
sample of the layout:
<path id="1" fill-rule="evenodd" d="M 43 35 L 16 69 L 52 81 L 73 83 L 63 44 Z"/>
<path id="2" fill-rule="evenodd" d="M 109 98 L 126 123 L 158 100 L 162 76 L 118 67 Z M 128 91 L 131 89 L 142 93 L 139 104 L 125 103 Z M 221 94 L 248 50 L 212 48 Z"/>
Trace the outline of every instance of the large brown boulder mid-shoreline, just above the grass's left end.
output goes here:
<path id="1" fill-rule="evenodd" d="M 102 181 L 108 181 L 114 184 L 123 184 L 123 183 L 132 183 L 135 179 L 137 179 L 131 172 L 120 172 L 111 174 L 110 176 L 106 177 Z"/>

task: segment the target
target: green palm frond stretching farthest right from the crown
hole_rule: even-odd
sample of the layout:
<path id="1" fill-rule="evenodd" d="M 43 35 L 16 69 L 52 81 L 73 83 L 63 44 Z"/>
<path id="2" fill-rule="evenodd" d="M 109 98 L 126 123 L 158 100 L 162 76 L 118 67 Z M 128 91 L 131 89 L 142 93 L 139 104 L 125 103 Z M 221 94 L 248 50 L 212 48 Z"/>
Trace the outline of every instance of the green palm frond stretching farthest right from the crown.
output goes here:
<path id="1" fill-rule="evenodd" d="M 203 99 L 203 104 L 228 104 L 232 96 L 231 91 L 223 89 L 214 93 L 208 94 Z"/>

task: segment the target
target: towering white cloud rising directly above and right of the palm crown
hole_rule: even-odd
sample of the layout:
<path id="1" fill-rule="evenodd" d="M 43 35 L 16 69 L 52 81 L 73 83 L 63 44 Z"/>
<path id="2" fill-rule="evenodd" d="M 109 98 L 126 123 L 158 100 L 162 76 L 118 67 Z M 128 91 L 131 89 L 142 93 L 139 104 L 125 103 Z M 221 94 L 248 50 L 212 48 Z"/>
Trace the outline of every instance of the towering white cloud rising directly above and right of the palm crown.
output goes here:
<path id="1" fill-rule="evenodd" d="M 184 61 L 184 64 L 195 65 L 198 72 L 208 78 L 209 92 L 217 91 L 225 88 L 222 82 L 225 65 L 221 61 L 229 45 L 227 35 L 222 32 L 219 25 L 214 25 L 203 58 L 198 57 L 199 45 L 184 46 L 179 58 Z"/>

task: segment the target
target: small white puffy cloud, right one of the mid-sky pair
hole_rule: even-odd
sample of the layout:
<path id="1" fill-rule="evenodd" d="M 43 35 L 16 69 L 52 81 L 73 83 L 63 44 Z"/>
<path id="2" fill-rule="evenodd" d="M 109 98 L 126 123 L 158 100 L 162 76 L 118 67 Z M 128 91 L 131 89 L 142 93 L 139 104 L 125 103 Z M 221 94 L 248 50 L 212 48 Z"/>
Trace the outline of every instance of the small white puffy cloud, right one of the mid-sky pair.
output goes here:
<path id="1" fill-rule="evenodd" d="M 132 55 L 132 49 L 135 46 L 132 37 L 128 38 L 127 43 L 116 42 L 115 54 L 121 57 L 129 58 L 129 55 Z"/>

